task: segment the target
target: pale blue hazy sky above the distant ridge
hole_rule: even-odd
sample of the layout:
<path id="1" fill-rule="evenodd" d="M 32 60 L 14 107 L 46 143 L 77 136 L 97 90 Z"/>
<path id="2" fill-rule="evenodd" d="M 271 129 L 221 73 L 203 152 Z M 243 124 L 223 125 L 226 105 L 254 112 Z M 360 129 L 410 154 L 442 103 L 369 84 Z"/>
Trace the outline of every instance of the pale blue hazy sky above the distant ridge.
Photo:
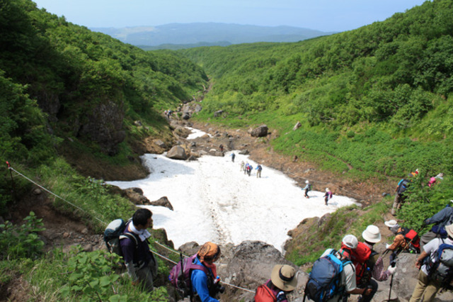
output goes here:
<path id="1" fill-rule="evenodd" d="M 88 28 L 218 22 L 296 26 L 323 31 L 384 21 L 424 0 L 34 0 Z"/>

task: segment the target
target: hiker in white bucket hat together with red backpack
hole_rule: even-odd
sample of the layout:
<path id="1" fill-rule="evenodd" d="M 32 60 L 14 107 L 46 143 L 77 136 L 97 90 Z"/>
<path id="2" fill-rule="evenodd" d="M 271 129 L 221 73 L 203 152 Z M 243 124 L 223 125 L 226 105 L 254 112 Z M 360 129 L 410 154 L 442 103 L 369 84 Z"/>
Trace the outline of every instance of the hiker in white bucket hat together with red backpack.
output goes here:
<path id="1" fill-rule="evenodd" d="M 377 281 L 385 281 L 394 274 L 396 267 L 389 266 L 384 270 L 384 260 L 373 250 L 375 243 L 381 241 L 381 233 L 376 225 L 368 225 L 362 233 L 364 242 L 359 242 L 352 252 L 352 263 L 355 265 L 357 287 L 372 289 L 368 296 L 362 296 L 360 302 L 369 302 L 377 291 Z"/>

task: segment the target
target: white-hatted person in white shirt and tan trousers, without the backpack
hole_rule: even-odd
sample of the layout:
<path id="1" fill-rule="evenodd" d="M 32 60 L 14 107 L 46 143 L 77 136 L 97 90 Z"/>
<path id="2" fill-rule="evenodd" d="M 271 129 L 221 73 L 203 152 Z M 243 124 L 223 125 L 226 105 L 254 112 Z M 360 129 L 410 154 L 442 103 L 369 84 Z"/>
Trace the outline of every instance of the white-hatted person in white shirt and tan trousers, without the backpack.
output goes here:
<path id="1" fill-rule="evenodd" d="M 409 302 L 431 302 L 434 300 L 437 291 L 442 288 L 441 281 L 430 279 L 428 276 L 428 267 L 426 264 L 423 264 L 423 259 L 435 255 L 435 252 L 437 252 L 440 245 L 444 243 L 453 245 L 453 225 L 447 225 L 445 231 L 447 232 L 447 238 L 434 238 L 426 245 L 423 245 L 423 252 L 415 260 L 415 267 L 420 269 L 420 272 L 418 272 L 418 283 L 415 286 L 415 289 L 413 289 Z"/>

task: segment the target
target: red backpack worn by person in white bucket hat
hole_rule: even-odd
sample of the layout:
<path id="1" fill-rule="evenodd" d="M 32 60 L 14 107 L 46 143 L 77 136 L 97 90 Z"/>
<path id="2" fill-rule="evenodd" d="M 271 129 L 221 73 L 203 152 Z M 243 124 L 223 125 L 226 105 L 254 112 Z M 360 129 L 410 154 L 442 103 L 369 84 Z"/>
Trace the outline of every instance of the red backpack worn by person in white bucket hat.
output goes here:
<path id="1" fill-rule="evenodd" d="M 363 242 L 358 242 L 357 248 L 352 250 L 351 260 L 355 267 L 355 281 L 357 285 L 367 284 L 371 279 L 371 271 L 373 270 L 374 264 L 369 262 L 377 252 L 370 249 Z"/>

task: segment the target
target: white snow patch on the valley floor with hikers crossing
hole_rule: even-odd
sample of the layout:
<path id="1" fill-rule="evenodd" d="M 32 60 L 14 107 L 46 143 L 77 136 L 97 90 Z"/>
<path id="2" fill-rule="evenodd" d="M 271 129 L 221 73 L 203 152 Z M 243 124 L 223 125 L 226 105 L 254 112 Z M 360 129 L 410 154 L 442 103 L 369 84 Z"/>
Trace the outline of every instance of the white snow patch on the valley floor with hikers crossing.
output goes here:
<path id="1" fill-rule="evenodd" d="M 190 138 L 203 134 L 193 130 Z M 310 191 L 310 198 L 304 198 L 302 189 L 282 172 L 262 164 L 261 178 L 256 178 L 256 162 L 237 151 L 232 162 L 231 153 L 205 155 L 192 162 L 147 154 L 142 157 L 151 171 L 146 179 L 108 184 L 121 189 L 139 187 L 149 201 L 167 196 L 174 211 L 144 207 L 153 212 L 154 228 L 164 228 L 176 248 L 190 241 L 239 245 L 243 240 L 260 240 L 284 252 L 287 232 L 304 218 L 321 217 L 355 203 L 335 192 L 328 206 L 324 205 L 324 192 Z M 241 161 L 253 166 L 250 177 L 240 171 Z"/>

